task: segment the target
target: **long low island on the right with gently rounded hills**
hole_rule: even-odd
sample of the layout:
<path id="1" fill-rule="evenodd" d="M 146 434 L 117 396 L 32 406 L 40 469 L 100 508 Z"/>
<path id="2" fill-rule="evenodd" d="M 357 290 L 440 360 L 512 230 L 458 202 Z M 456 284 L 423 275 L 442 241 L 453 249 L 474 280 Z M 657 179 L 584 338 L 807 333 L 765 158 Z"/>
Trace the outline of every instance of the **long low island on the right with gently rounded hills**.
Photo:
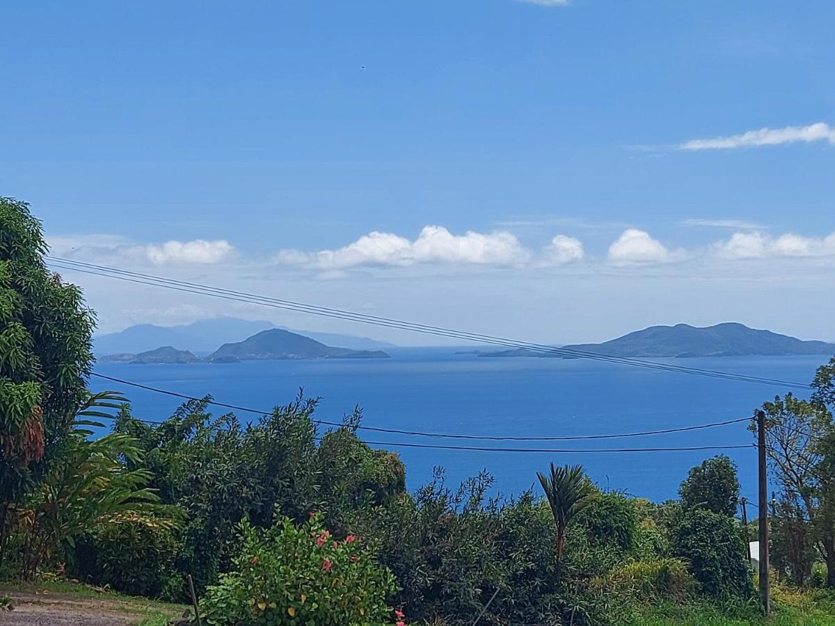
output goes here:
<path id="1" fill-rule="evenodd" d="M 650 326 L 643 331 L 604 341 L 559 346 L 560 351 L 593 352 L 595 354 L 639 358 L 686 358 L 696 356 L 790 356 L 832 355 L 835 344 L 825 341 L 802 341 L 796 337 L 771 331 L 758 331 L 742 324 L 728 322 L 716 326 L 697 327 L 689 324 Z M 504 351 L 478 351 L 478 356 L 539 358 L 578 358 L 565 352 L 540 352 L 518 348 Z"/>

